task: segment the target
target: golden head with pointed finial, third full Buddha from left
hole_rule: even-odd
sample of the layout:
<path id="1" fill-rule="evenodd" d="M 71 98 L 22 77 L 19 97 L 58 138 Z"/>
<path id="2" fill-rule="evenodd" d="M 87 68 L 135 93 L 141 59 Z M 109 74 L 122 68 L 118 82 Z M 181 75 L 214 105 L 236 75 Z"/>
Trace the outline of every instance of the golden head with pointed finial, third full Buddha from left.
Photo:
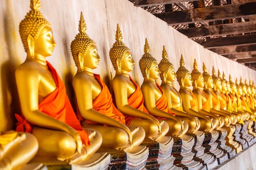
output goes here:
<path id="1" fill-rule="evenodd" d="M 120 31 L 119 24 L 117 24 L 116 42 L 109 51 L 110 60 L 115 71 L 118 73 L 130 72 L 133 70 L 135 62 L 132 59 L 130 49 L 124 44 L 123 35 Z"/>

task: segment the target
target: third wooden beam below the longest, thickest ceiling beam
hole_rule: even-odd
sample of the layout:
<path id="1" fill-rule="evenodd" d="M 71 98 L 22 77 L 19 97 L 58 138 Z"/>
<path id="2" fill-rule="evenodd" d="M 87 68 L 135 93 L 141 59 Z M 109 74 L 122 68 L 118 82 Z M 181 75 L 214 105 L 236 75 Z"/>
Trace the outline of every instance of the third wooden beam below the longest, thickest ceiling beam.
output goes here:
<path id="1" fill-rule="evenodd" d="M 240 45 L 240 46 L 222 46 L 218 48 L 209 49 L 220 55 L 233 54 L 233 53 L 243 53 L 249 51 L 256 51 L 256 44 L 252 45 Z"/>

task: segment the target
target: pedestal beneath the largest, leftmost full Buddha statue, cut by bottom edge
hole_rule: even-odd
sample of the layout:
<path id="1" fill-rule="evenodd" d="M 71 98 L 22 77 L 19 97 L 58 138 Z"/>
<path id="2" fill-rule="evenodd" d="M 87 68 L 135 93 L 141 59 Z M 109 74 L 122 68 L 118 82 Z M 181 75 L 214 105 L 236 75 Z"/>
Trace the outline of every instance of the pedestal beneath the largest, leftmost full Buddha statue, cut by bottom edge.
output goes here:
<path id="1" fill-rule="evenodd" d="M 31 169 L 37 164 L 37 167 Z M 106 152 L 94 153 L 89 159 L 69 165 L 67 162 L 44 157 L 34 157 L 22 170 L 107 170 L 110 164 L 110 154 Z"/>

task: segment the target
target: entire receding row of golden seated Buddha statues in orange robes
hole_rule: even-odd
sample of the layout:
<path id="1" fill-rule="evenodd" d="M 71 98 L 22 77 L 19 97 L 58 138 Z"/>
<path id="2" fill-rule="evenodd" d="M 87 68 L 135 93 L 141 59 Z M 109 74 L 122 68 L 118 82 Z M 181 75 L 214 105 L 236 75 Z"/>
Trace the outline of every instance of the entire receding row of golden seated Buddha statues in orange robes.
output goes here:
<path id="1" fill-rule="evenodd" d="M 130 77 L 135 62 L 123 43 L 117 24 L 116 42 L 109 56 L 116 71 L 111 94 L 93 70 L 100 57 L 86 33 L 81 13 L 79 33 L 71 42 L 77 67 L 72 80 L 77 113 L 65 86 L 46 58 L 56 42 L 50 23 L 40 12 L 40 0 L 31 0 L 31 10 L 20 22 L 19 32 L 27 59 L 16 68 L 16 84 L 22 114 L 15 114 L 16 131 L 0 136 L 0 169 L 18 170 L 33 157 L 58 159 L 70 164 L 90 158 L 97 150 L 130 152 L 144 140 L 162 142 L 164 136 L 186 138 L 196 132 L 209 133 L 243 121 L 255 121 L 256 93 L 252 82 L 240 84 L 221 77 L 220 72 L 186 69 L 183 57 L 175 73 L 165 47 L 162 60 L 150 54 L 147 42 L 139 68 L 144 81 L 139 87 Z M 162 84 L 156 79 L 162 79 Z M 172 82 L 180 85 L 177 91 Z M 193 86 L 193 91 L 190 87 Z M 254 137 L 256 134 L 251 132 Z"/>

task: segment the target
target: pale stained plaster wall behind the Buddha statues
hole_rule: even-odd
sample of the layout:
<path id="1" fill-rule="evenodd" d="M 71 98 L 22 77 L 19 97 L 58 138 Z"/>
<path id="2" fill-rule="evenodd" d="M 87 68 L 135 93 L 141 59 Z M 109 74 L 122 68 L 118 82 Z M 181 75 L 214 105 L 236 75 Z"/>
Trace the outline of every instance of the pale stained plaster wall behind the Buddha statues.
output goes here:
<path id="1" fill-rule="evenodd" d="M 18 26 L 29 11 L 29 0 L 0 0 L 0 131 L 13 127 L 13 113 L 20 113 L 15 84 L 15 68 L 25 61 Z M 67 88 L 74 106 L 72 77 L 76 66 L 70 52 L 70 43 L 78 33 L 80 12 L 83 11 L 87 33 L 96 43 L 101 62 L 94 73 L 100 74 L 111 89 L 115 70 L 109 59 L 109 50 L 115 42 L 117 23 L 120 25 L 124 43 L 131 49 L 135 68 L 130 75 L 141 85 L 143 77 L 139 70 L 139 59 L 143 55 L 145 38 L 148 38 L 152 55 L 160 62 L 163 45 L 175 70 L 183 54 L 186 68 L 192 71 L 194 58 L 202 71 L 202 62 L 211 73 L 212 66 L 224 71 L 226 78 L 252 79 L 256 82 L 256 71 L 231 61 L 188 39 L 166 22 L 141 8 L 134 7 L 128 0 L 41 0 L 41 12 L 52 24 L 56 48 L 47 60 L 56 68 Z M 161 80 L 158 80 L 161 83 Z M 174 86 L 179 89 L 177 82 Z M 7 123 L 8 122 L 8 123 Z"/>

